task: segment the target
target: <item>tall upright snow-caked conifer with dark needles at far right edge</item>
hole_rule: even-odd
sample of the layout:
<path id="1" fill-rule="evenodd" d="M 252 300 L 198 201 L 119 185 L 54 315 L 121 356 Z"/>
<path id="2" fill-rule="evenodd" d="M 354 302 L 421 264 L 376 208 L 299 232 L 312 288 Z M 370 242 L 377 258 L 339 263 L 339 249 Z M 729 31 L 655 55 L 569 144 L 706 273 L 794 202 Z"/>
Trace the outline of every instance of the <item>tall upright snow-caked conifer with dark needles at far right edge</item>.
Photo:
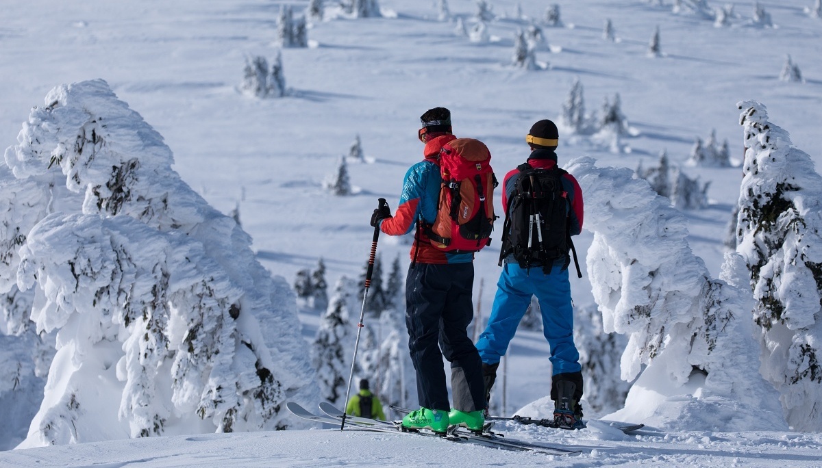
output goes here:
<path id="1" fill-rule="evenodd" d="M 810 156 L 737 103 L 746 147 L 737 252 L 750 274 L 764 362 L 792 429 L 822 430 L 822 177 Z"/>

